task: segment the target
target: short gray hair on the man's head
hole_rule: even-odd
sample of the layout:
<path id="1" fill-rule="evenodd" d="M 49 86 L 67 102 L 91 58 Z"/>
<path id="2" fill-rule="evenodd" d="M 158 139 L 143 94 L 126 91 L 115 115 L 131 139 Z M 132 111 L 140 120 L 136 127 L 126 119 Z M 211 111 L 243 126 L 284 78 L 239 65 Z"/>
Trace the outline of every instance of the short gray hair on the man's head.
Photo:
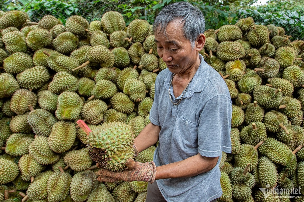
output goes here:
<path id="1" fill-rule="evenodd" d="M 205 31 L 205 18 L 199 8 L 188 2 L 176 2 L 161 9 L 154 19 L 154 34 L 160 27 L 159 32 L 163 31 L 164 35 L 166 35 L 167 25 L 176 19 L 181 19 L 184 22 L 184 37 L 190 41 L 193 50 L 198 36 Z"/>

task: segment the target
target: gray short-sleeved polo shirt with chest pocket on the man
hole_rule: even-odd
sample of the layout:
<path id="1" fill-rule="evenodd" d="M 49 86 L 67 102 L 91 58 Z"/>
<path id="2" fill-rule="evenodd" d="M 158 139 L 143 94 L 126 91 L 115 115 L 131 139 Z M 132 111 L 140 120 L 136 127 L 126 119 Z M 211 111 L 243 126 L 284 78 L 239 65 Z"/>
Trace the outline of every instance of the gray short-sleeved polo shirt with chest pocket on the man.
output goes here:
<path id="1" fill-rule="evenodd" d="M 193 177 L 156 180 L 167 201 L 209 202 L 223 193 L 219 162 L 222 151 L 231 153 L 232 103 L 223 78 L 199 57 L 199 69 L 178 105 L 171 103 L 168 93 L 172 73 L 167 68 L 157 75 L 150 121 L 161 131 L 154 162 L 161 166 L 198 153 L 219 160 L 211 171 Z M 178 102 L 181 95 L 175 98 L 172 87 L 170 93 Z"/>

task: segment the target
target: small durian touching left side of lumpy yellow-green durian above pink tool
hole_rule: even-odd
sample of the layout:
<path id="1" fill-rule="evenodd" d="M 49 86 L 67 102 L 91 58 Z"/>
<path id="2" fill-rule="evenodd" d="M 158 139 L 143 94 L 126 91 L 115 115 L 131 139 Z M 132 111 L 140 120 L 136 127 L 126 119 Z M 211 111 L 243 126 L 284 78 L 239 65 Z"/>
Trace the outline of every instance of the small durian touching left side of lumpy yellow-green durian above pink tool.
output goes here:
<path id="1" fill-rule="evenodd" d="M 44 110 L 54 113 L 57 109 L 58 95 L 48 90 L 39 91 L 37 95 L 39 106 Z"/>

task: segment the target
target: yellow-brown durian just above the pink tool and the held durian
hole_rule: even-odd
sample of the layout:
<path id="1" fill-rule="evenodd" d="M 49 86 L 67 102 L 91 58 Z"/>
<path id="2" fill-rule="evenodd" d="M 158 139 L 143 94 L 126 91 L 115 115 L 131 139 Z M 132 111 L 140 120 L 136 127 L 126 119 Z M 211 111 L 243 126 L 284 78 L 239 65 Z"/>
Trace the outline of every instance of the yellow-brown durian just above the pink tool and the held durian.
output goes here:
<path id="1" fill-rule="evenodd" d="M 81 116 L 88 124 L 100 124 L 107 109 L 108 106 L 104 101 L 95 99 L 85 103 L 81 110 Z"/>

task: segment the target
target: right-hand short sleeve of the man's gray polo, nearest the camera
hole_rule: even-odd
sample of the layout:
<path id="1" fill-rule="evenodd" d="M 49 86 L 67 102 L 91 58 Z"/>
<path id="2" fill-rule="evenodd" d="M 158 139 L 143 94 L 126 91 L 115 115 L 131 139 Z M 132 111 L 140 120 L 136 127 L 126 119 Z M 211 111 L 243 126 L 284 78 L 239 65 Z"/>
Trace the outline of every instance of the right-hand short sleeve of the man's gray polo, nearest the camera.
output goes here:
<path id="1" fill-rule="evenodd" d="M 203 108 L 198 121 L 199 153 L 218 157 L 221 152 L 231 153 L 231 99 L 217 95 Z"/>

